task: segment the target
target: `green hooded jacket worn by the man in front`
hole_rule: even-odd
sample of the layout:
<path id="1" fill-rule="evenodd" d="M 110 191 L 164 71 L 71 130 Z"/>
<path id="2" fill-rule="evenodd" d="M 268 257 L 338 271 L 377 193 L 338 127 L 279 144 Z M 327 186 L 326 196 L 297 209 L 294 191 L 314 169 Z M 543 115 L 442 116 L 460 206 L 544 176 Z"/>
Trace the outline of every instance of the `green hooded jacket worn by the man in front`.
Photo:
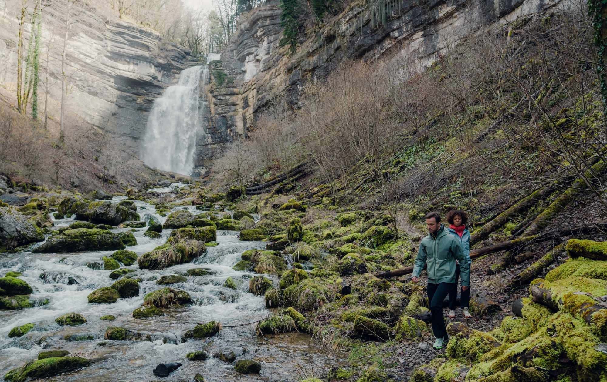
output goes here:
<path id="1" fill-rule="evenodd" d="M 459 260 L 461 286 L 470 286 L 470 264 L 461 244 L 441 224 L 436 233 L 429 233 L 419 244 L 413 276 L 419 277 L 427 262 L 429 283 L 455 283 L 455 260 Z"/>

